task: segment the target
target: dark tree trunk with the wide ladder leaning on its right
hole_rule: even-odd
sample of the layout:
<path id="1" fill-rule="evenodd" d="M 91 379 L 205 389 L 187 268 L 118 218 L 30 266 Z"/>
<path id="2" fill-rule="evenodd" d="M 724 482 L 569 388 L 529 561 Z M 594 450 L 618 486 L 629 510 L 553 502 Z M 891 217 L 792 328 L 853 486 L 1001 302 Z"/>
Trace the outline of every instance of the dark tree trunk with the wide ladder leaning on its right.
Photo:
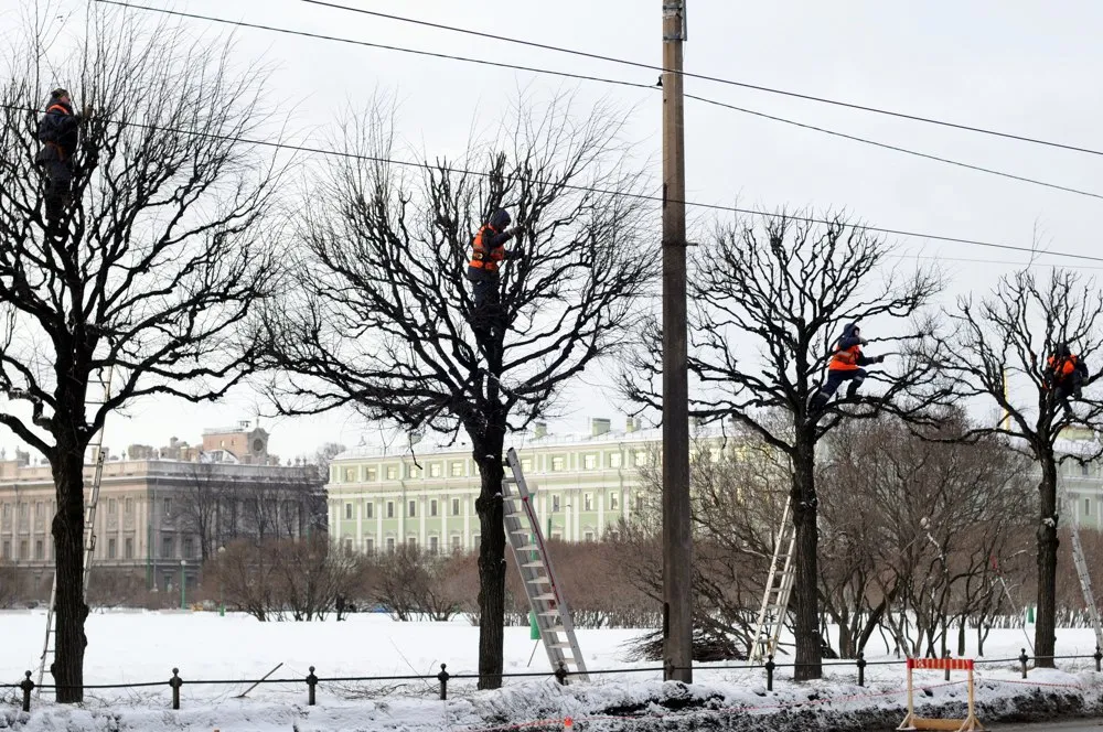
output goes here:
<path id="1" fill-rule="evenodd" d="M 481 536 L 479 540 L 479 688 L 502 686 L 505 640 L 505 528 L 502 513 L 502 448 L 505 432 L 494 420 L 474 443 L 481 491 L 475 500 Z M 505 423 L 504 416 L 501 423 Z"/>

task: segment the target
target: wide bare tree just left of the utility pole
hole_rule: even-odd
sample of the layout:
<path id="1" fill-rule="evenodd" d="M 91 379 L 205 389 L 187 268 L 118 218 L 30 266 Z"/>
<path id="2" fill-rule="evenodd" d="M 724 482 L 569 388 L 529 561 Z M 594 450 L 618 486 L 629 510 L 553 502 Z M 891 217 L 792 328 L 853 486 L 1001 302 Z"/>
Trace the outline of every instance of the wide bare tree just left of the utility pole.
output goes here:
<path id="1" fill-rule="evenodd" d="M 274 388 L 285 412 L 352 405 L 413 433 L 462 430 L 481 492 L 481 688 L 501 685 L 505 536 L 501 483 L 512 430 L 635 323 L 652 271 L 640 176 L 620 141 L 625 116 L 576 117 L 557 97 L 524 103 L 463 168 L 418 179 L 387 162 L 377 108 L 347 130 L 346 158 L 312 181 L 299 230 L 299 291 L 267 320 L 270 365 L 299 376 Z M 499 207 L 524 226 L 523 256 L 501 282 L 502 329 L 480 327 L 464 273 L 475 229 Z M 303 378 L 306 377 L 306 378 Z"/>

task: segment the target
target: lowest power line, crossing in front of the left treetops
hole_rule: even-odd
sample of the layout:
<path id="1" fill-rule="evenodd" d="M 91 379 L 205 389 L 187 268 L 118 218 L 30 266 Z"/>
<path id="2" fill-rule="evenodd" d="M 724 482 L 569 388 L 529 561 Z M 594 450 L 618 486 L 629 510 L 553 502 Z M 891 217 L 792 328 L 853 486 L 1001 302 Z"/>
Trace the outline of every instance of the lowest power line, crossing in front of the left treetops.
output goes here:
<path id="1" fill-rule="evenodd" d="M 8 104 L 0 104 L 0 108 L 13 109 L 13 110 L 18 110 L 18 111 L 32 111 L 32 112 L 41 112 L 42 111 L 41 109 L 36 109 L 36 108 L 33 108 L 33 107 L 22 107 L 22 106 L 18 106 L 18 105 L 8 105 Z M 437 164 L 431 164 L 431 163 L 420 163 L 420 162 L 414 162 L 414 161 L 408 161 L 408 160 L 396 160 L 394 158 L 384 158 L 384 157 L 381 157 L 381 155 L 367 155 L 367 154 L 364 154 L 364 153 L 346 152 L 346 151 L 333 150 L 333 149 L 329 149 L 329 148 L 317 148 L 317 147 L 306 146 L 306 144 L 291 144 L 291 143 L 288 143 L 288 142 L 272 142 L 270 140 L 254 140 L 254 139 L 250 139 L 250 138 L 244 138 L 244 137 L 237 137 L 237 136 L 231 136 L 231 134 L 217 134 L 217 133 L 214 133 L 214 132 L 203 132 L 203 131 L 199 131 L 199 130 L 189 130 L 189 129 L 184 129 L 184 128 L 174 128 L 174 127 L 162 127 L 162 126 L 157 126 L 157 125 L 147 125 L 147 123 L 142 123 L 142 122 L 130 122 L 130 121 L 120 122 L 118 120 L 111 120 L 111 119 L 104 119 L 103 121 L 110 122 L 113 125 L 118 125 L 120 127 L 127 127 L 127 126 L 129 126 L 129 127 L 137 127 L 137 128 L 140 128 L 140 129 L 152 130 L 152 131 L 173 132 L 173 133 L 176 133 L 176 134 L 191 134 L 191 136 L 194 136 L 194 137 L 203 137 L 203 138 L 210 138 L 210 139 L 214 139 L 214 140 L 223 140 L 223 141 L 226 141 L 226 142 L 240 142 L 240 143 L 244 143 L 244 144 L 251 144 L 251 146 L 261 147 L 261 148 L 274 148 L 274 149 L 278 149 L 278 150 L 293 150 L 293 151 L 297 151 L 297 152 L 306 152 L 306 153 L 311 153 L 311 154 L 321 154 L 321 155 L 328 155 L 328 157 L 334 157 L 334 158 L 345 158 L 345 159 L 349 159 L 349 160 L 363 160 L 363 161 L 366 161 L 366 162 L 387 163 L 387 164 L 392 164 L 392 165 L 401 165 L 401 166 L 405 166 L 405 168 L 419 168 L 419 169 L 422 169 L 422 170 L 439 171 L 439 172 L 442 171 L 442 172 L 447 172 L 447 173 L 456 173 L 456 174 L 460 174 L 460 175 L 474 175 L 474 176 L 479 176 L 479 177 L 490 177 L 492 175 L 492 173 L 488 173 L 485 171 L 475 171 L 475 170 L 470 170 L 470 169 L 464 169 L 464 168 L 453 168 L 453 166 L 449 166 L 449 165 L 437 165 Z M 539 182 L 539 179 L 528 179 L 528 180 L 529 181 Z M 649 201 L 649 202 L 653 202 L 653 203 L 663 203 L 664 202 L 664 198 L 663 198 L 662 195 L 653 195 L 653 194 L 646 194 L 646 193 L 632 193 L 632 192 L 628 192 L 628 191 L 614 191 L 614 190 L 609 190 L 609 189 L 598 189 L 598 187 L 593 187 L 593 186 L 577 185 L 577 184 L 563 184 L 560 187 L 567 189 L 567 190 L 571 190 L 571 191 L 580 191 L 580 192 L 585 192 L 585 193 L 599 193 L 599 194 L 602 194 L 602 195 L 622 196 L 622 197 L 627 197 L 627 198 L 634 198 L 636 201 Z M 687 200 L 687 201 L 682 201 L 682 202 L 676 202 L 676 203 L 684 203 L 687 206 L 694 206 L 696 208 L 704 208 L 704 209 L 707 209 L 707 211 L 722 211 L 722 212 L 727 212 L 727 213 L 736 213 L 736 214 L 742 214 L 745 216 L 756 216 L 756 217 L 760 217 L 760 218 L 788 218 L 790 220 L 801 222 L 801 223 L 805 223 L 805 224 L 823 224 L 823 225 L 833 225 L 833 224 L 837 223 L 836 220 L 829 219 L 829 218 L 817 218 L 815 216 L 802 216 L 802 215 L 797 215 L 797 214 L 788 214 L 788 213 L 769 213 L 769 212 L 764 212 L 764 211 L 756 211 L 753 208 L 741 208 L 739 206 L 725 206 L 722 204 L 703 203 L 703 202 L 699 202 L 699 201 L 688 201 Z M 1034 249 L 1031 247 L 1020 247 L 1020 246 L 1015 246 L 1015 245 L 1010 245 L 1010 244 L 997 244 L 997 243 L 994 243 L 994 241 L 983 241 L 981 239 L 970 239 L 970 238 L 956 237 L 956 236 L 944 236 L 944 235 L 940 235 L 940 234 L 924 234 L 922 232 L 909 232 L 907 229 L 896 229 L 896 228 L 888 228 L 888 227 L 881 227 L 881 226 L 868 226 L 868 225 L 865 225 L 865 224 L 850 224 L 849 226 L 852 226 L 853 228 L 864 229 L 866 232 L 876 232 L 878 234 L 887 234 L 887 235 L 892 235 L 892 236 L 902 236 L 902 237 L 912 238 L 912 239 L 930 239 L 932 241 L 945 241 L 945 243 L 949 243 L 949 244 L 964 244 L 964 245 L 975 246 L 975 247 L 986 247 L 986 248 L 989 248 L 989 249 L 1005 249 L 1007 251 L 1021 251 L 1021 252 L 1026 252 L 1026 254 L 1029 254 L 1029 255 L 1032 255 L 1032 256 L 1065 257 L 1065 258 L 1070 258 L 1070 259 L 1080 259 L 1080 260 L 1084 260 L 1084 261 L 1103 262 L 1103 257 L 1093 257 L 1091 255 L 1077 255 L 1077 254 L 1071 254 L 1071 252 L 1067 252 L 1067 251 L 1040 251 L 1040 250 Z"/>

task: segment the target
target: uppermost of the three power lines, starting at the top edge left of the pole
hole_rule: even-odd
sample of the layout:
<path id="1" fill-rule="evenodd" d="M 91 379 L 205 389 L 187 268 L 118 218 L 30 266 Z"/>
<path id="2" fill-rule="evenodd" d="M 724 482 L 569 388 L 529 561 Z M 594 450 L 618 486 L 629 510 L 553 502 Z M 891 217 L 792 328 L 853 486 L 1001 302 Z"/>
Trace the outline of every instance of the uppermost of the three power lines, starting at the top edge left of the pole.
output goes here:
<path id="1" fill-rule="evenodd" d="M 97 0 L 97 2 L 107 2 L 108 0 Z M 578 51 L 577 49 L 566 49 L 564 46 L 557 46 L 548 43 L 538 43 L 536 41 L 525 41 L 523 39 L 503 37 L 500 35 L 494 35 L 493 33 L 485 33 L 482 31 L 474 31 L 467 28 L 458 28 L 456 25 L 445 25 L 442 23 L 432 23 L 425 20 L 419 20 L 416 18 L 406 18 L 404 15 L 394 15 L 392 13 L 378 12 L 375 10 L 365 10 L 363 8 L 350 8 L 349 6 L 338 4 L 335 2 L 323 2 L 322 0 L 302 0 L 302 2 L 308 2 L 314 6 L 323 6 L 326 8 L 333 8 L 336 10 L 346 10 L 350 12 L 361 13 L 364 15 L 375 15 L 377 18 L 386 18 L 388 20 L 396 20 L 404 23 L 414 23 L 416 25 L 425 25 L 428 28 L 436 28 L 439 30 L 451 31 L 453 33 L 464 33 L 467 35 L 475 35 L 484 39 L 493 39 L 495 41 L 502 41 L 505 43 L 515 43 L 517 45 L 525 45 L 534 49 L 543 49 L 545 51 L 555 51 L 558 53 L 566 53 L 575 56 L 582 56 L 586 58 L 593 58 L 597 61 L 607 61 L 613 64 L 622 64 L 624 66 L 634 66 L 636 68 L 646 68 L 649 71 L 668 73 L 670 69 L 663 68 L 662 66 L 655 66 L 653 64 L 645 64 L 639 61 L 630 61 L 628 58 L 618 58 L 615 56 L 607 56 L 598 53 L 590 53 L 588 51 Z M 1024 134 L 1015 134 L 1013 132 L 1002 132 L 999 130 L 993 130 L 984 127 L 975 127 L 972 125 L 962 125 L 959 122 L 950 122 L 941 119 L 935 119 L 933 117 L 923 117 L 920 115 L 910 115 L 901 111 L 893 111 L 890 109 L 881 109 L 879 107 L 869 107 L 866 105 L 859 105 L 850 101 L 840 101 L 838 99 L 829 99 L 827 97 L 817 97 L 810 94 L 801 94 L 799 92 L 789 92 L 785 89 L 778 89 L 774 87 L 762 86 L 760 84 L 750 84 L 749 82 L 737 82 L 735 79 L 721 78 L 718 76 L 709 76 L 707 74 L 694 74 L 690 72 L 679 72 L 683 76 L 687 78 L 696 78 L 703 82 L 715 82 L 717 84 L 727 84 L 729 86 L 737 86 L 743 89 L 753 89 L 756 92 L 764 92 L 767 94 L 777 94 L 780 96 L 792 97 L 795 99 L 804 99 L 806 101 L 816 101 L 820 104 L 833 105 L 836 107 L 845 107 L 847 109 L 857 109 L 859 111 L 868 111 L 876 115 L 885 115 L 887 117 L 896 117 L 899 119 L 907 119 L 914 122 L 923 122 L 927 125 L 938 125 L 940 127 L 949 127 L 957 130 L 964 130 L 967 132 L 977 132 L 981 134 L 988 134 L 992 137 L 1004 138 L 1008 140 L 1016 140 L 1018 142 L 1029 142 L 1031 144 L 1040 144 L 1049 148 L 1058 148 L 1061 150 L 1071 150 L 1073 152 L 1083 152 L 1090 155 L 1103 155 L 1103 150 L 1093 150 L 1091 148 L 1082 148 L 1080 146 L 1067 144 L 1063 142 L 1054 142 L 1052 140 L 1043 140 L 1040 138 L 1027 137 Z"/>

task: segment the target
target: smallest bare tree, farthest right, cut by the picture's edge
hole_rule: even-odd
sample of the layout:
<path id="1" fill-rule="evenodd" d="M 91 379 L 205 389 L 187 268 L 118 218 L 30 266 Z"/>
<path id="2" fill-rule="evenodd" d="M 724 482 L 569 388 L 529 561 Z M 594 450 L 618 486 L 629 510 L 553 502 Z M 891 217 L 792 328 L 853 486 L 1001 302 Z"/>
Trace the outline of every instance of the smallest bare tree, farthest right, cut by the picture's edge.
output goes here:
<path id="1" fill-rule="evenodd" d="M 1057 477 L 1062 459 L 1057 442 L 1064 428 L 1077 423 L 1097 432 L 1103 427 L 1103 401 L 1084 396 L 1071 412 L 1064 411 L 1046 366 L 1062 344 L 1089 362 L 1103 353 L 1099 326 L 1103 294 L 1094 281 L 1075 272 L 1053 269 L 1038 277 L 1024 270 L 1002 278 L 992 297 L 979 302 L 961 298 L 947 317 L 944 334 L 930 338 L 931 347 L 953 354 L 940 360 L 963 398 L 985 398 L 1004 415 L 999 423 L 978 427 L 966 437 L 1007 435 L 1041 473 L 1035 654 L 1039 666 L 1052 666 L 1060 518 Z M 1085 461 L 1100 454 L 1099 443 L 1093 442 L 1086 453 L 1067 456 Z"/>

